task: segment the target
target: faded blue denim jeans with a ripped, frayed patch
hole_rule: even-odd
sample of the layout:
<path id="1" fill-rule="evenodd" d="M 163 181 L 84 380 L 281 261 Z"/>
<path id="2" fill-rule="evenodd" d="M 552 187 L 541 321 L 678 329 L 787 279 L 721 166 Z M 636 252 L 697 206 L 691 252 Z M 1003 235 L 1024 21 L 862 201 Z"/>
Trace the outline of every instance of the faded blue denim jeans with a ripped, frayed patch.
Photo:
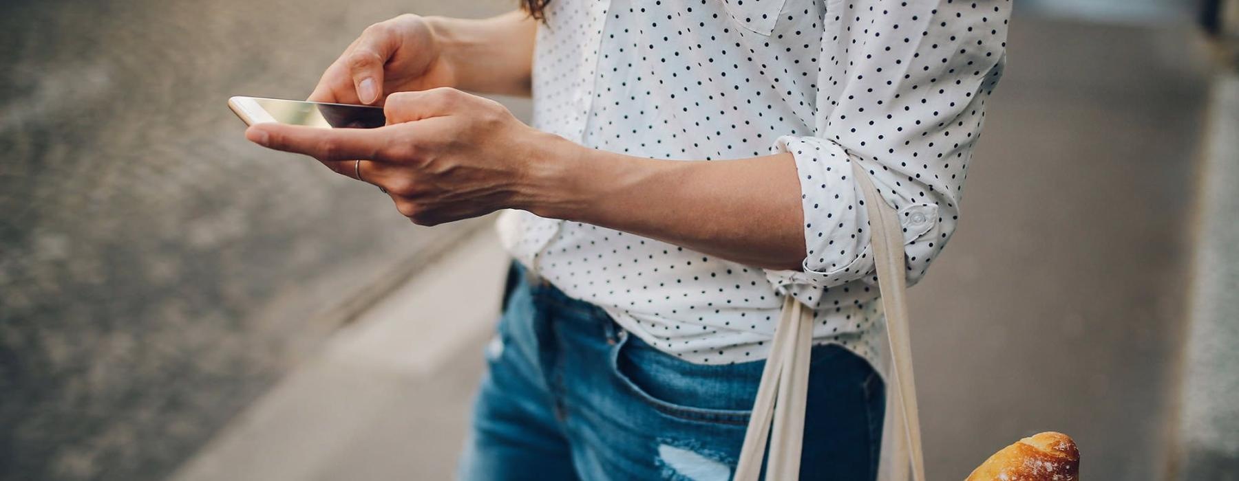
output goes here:
<path id="1" fill-rule="evenodd" d="M 695 365 L 513 263 L 462 480 L 729 480 L 764 361 Z M 885 387 L 813 349 L 804 480 L 873 480 Z"/>

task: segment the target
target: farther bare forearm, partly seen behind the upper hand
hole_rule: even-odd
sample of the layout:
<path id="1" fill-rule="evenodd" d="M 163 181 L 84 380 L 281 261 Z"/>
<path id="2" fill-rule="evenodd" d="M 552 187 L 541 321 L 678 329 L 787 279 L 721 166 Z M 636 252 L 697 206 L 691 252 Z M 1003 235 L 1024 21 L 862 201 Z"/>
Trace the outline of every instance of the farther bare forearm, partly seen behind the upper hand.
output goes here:
<path id="1" fill-rule="evenodd" d="M 513 11 L 483 20 L 426 19 L 462 90 L 529 96 L 536 20 Z"/>

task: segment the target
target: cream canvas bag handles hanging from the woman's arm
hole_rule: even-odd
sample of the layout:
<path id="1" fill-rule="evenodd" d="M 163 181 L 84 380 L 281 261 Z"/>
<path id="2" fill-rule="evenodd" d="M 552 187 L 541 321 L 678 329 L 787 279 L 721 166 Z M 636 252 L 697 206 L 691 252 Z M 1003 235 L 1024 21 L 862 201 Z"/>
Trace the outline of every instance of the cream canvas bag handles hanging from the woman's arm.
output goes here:
<path id="1" fill-rule="evenodd" d="M 913 480 L 924 481 L 921 450 L 921 415 L 917 408 L 912 373 L 907 281 L 903 261 L 903 234 L 898 214 L 886 204 L 867 172 L 855 160 L 852 174 L 864 192 L 869 213 L 873 263 L 878 292 L 886 314 L 890 360 L 895 382 L 888 382 L 886 428 L 882 440 L 882 469 L 878 479 L 906 481 L 908 467 Z M 771 352 L 762 370 L 757 399 L 753 402 L 745 443 L 736 466 L 736 481 L 757 481 L 769 439 L 767 480 L 795 480 L 800 472 L 800 448 L 804 439 L 804 409 L 808 396 L 809 352 L 813 347 L 813 310 L 790 296 L 774 331 Z M 896 409 L 898 409 L 896 414 Z"/>

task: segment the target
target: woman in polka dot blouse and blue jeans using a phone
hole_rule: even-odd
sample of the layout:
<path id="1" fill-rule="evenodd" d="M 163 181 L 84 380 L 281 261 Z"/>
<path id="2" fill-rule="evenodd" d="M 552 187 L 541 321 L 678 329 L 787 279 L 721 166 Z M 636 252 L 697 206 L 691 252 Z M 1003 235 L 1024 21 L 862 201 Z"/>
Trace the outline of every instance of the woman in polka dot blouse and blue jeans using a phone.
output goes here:
<path id="1" fill-rule="evenodd" d="M 311 100 L 389 125 L 247 137 L 515 257 L 468 480 L 729 479 L 784 296 L 815 312 L 802 475 L 875 477 L 883 341 L 851 162 L 908 281 L 955 229 L 1010 0 L 528 0 L 367 28 Z M 467 94 L 532 95 L 533 126 Z M 359 160 L 359 161 L 358 161 Z"/>

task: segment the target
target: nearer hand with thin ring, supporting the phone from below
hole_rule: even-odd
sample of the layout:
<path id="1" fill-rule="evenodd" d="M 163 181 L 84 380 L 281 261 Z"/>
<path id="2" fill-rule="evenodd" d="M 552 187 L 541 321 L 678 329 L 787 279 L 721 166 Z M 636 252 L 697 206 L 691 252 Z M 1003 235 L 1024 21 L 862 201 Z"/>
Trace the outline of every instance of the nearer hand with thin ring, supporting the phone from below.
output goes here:
<path id="1" fill-rule="evenodd" d="M 584 147 L 522 124 L 497 101 L 437 88 L 392 94 L 384 113 L 388 125 L 379 129 L 258 124 L 245 137 L 312 156 L 347 177 L 359 171 L 420 225 L 569 202 L 548 199 L 544 179 L 561 164 L 553 160 Z"/>

